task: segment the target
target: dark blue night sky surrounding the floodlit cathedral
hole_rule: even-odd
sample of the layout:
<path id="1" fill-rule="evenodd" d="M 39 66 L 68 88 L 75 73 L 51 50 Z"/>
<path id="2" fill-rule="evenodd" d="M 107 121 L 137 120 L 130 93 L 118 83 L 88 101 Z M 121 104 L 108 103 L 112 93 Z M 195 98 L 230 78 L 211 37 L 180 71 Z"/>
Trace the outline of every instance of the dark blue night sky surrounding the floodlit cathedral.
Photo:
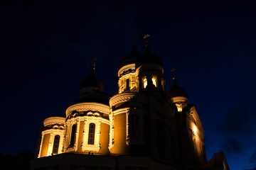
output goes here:
<path id="1" fill-rule="evenodd" d="M 206 154 L 230 169 L 256 168 L 256 11 L 253 1 L 1 2 L 0 152 L 34 152 L 40 123 L 65 116 L 79 84 L 96 74 L 117 93 L 117 65 L 132 51 L 171 68 L 206 131 Z"/>

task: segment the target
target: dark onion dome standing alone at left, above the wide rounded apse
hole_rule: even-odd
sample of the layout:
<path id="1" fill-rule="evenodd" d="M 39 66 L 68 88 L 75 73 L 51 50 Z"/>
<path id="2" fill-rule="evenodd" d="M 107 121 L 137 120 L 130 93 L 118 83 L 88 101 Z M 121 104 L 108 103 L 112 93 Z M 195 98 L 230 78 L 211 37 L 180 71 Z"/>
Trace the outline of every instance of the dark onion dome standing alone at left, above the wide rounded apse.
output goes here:
<path id="1" fill-rule="evenodd" d="M 80 90 L 85 87 L 93 87 L 97 91 L 104 91 L 104 84 L 100 79 L 95 75 L 95 69 L 92 69 L 92 72 L 89 77 L 83 79 L 80 83 Z"/>

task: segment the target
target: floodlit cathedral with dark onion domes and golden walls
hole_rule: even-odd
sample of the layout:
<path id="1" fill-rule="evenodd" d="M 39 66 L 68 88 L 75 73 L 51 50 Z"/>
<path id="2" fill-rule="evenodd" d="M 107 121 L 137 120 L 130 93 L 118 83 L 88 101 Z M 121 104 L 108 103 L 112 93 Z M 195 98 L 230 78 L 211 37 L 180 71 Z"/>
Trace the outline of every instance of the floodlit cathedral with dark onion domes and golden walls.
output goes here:
<path id="1" fill-rule="evenodd" d="M 65 117 L 43 121 L 31 169 L 229 169 L 223 152 L 206 159 L 205 132 L 187 91 L 175 74 L 165 89 L 163 62 L 145 46 L 140 54 L 134 43 L 119 62 L 114 96 L 93 64 Z"/>

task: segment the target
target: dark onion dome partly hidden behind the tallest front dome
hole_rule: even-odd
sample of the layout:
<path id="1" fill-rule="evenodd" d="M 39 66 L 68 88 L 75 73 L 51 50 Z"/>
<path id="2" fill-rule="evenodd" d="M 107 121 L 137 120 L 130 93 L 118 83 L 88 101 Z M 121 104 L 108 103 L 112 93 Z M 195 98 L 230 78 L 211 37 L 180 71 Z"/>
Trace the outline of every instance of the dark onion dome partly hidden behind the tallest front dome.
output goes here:
<path id="1" fill-rule="evenodd" d="M 118 69 L 121 69 L 127 64 L 135 64 L 135 62 L 137 62 L 140 55 L 141 54 L 139 54 L 139 52 L 137 51 L 136 45 L 133 45 L 132 53 L 130 55 L 125 56 L 121 60 L 121 62 L 119 62 Z"/>

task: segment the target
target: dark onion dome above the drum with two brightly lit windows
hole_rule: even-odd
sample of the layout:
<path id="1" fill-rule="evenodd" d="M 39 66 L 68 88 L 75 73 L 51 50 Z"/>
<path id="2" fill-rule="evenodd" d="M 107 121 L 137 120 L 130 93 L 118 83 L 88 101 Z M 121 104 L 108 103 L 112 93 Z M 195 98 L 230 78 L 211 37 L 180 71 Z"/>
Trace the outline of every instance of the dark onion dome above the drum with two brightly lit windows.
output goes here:
<path id="1" fill-rule="evenodd" d="M 154 64 L 159 64 L 161 67 L 163 67 L 163 62 L 161 58 L 152 53 L 149 50 L 149 47 L 146 47 L 145 53 L 142 55 L 142 57 L 139 57 L 139 60 L 137 60 L 136 67 L 142 66 L 142 64 L 147 64 L 147 63 L 154 63 Z"/>

